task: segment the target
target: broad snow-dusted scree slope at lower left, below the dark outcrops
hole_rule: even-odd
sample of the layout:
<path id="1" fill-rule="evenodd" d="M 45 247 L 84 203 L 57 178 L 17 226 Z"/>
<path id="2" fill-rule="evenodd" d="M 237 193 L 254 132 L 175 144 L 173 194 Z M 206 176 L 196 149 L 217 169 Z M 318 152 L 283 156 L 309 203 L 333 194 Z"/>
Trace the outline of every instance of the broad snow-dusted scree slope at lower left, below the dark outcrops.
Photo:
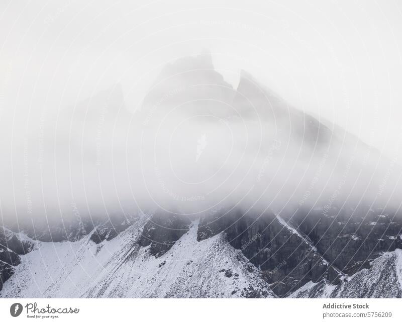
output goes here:
<path id="1" fill-rule="evenodd" d="M 0 297 L 275 297 L 224 233 L 197 241 L 193 222 L 161 257 L 140 247 L 145 220 L 95 244 L 37 241 Z"/>

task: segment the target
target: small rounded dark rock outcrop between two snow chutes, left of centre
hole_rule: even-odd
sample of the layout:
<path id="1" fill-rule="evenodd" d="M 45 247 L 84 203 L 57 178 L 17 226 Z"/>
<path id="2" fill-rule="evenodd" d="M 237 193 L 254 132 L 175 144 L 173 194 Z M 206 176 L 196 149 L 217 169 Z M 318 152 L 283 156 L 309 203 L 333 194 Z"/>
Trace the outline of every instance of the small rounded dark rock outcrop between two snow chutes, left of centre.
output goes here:
<path id="1" fill-rule="evenodd" d="M 185 216 L 157 212 L 145 224 L 138 243 L 141 247 L 150 246 L 150 254 L 160 257 L 188 231 L 190 224 Z"/>

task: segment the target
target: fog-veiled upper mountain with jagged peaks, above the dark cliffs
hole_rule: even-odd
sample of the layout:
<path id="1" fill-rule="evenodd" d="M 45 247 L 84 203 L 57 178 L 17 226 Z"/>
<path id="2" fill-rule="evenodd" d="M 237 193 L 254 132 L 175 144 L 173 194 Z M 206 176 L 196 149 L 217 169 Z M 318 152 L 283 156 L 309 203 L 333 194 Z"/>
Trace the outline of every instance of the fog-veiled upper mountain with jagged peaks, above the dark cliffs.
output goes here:
<path id="1" fill-rule="evenodd" d="M 399 207 L 397 160 L 289 107 L 245 72 L 233 89 L 208 55 L 167 65 L 134 113 L 117 85 L 36 117 L 35 130 L 3 138 L 6 222 Z"/>

